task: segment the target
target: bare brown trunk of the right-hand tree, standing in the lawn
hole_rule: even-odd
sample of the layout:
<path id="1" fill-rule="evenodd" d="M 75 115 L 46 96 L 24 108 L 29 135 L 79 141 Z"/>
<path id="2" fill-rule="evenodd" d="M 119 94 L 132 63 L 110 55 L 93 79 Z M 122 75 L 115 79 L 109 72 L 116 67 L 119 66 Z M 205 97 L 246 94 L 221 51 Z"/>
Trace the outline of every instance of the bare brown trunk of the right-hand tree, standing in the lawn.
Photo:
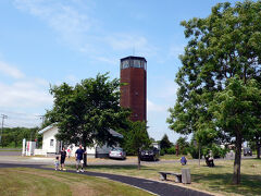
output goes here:
<path id="1" fill-rule="evenodd" d="M 234 161 L 233 184 L 240 184 L 240 166 L 241 166 L 241 134 L 236 136 L 236 155 Z"/>

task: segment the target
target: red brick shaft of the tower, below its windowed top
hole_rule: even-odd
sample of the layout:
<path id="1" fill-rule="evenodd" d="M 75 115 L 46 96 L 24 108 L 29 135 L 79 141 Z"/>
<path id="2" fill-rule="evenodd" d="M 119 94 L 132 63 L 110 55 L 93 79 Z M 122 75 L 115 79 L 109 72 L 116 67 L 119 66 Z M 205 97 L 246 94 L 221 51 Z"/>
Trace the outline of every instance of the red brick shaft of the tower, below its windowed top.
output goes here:
<path id="1" fill-rule="evenodd" d="M 127 83 L 121 87 L 120 105 L 130 108 L 132 121 L 147 121 L 147 74 L 144 69 L 128 68 L 121 70 L 121 83 Z"/>

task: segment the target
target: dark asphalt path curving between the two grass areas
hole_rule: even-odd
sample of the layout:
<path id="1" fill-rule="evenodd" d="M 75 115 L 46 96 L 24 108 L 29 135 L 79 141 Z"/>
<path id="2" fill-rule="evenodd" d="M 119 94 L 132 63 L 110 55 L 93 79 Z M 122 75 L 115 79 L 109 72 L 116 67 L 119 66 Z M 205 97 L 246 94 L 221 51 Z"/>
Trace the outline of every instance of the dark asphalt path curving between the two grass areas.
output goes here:
<path id="1" fill-rule="evenodd" d="M 42 169 L 42 170 L 53 170 L 51 168 L 41 168 L 41 166 L 36 164 L 13 164 L 13 163 L 0 163 L 0 168 L 34 168 L 34 169 Z M 67 170 L 66 172 L 76 173 L 74 170 Z M 105 177 L 112 181 L 117 181 L 121 183 L 125 183 L 147 192 L 150 192 L 154 195 L 162 195 L 162 196 L 210 196 L 209 194 L 176 186 L 174 184 L 161 183 L 157 181 L 146 180 L 146 179 L 138 179 L 132 176 L 123 176 L 116 174 L 108 174 L 108 173 L 98 173 L 98 172 L 89 172 L 85 171 L 84 173 L 77 173 L 82 175 L 91 175 L 91 176 L 100 176 Z"/>

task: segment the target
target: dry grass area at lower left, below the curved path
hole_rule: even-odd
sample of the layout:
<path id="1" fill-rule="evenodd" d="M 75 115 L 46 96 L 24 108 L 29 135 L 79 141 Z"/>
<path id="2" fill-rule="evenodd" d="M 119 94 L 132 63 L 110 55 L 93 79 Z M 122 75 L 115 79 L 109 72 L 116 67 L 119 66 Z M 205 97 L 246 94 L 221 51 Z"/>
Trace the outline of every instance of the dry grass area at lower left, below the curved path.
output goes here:
<path id="1" fill-rule="evenodd" d="M 0 169 L 1 196 L 133 196 L 147 192 L 105 179 L 36 169 Z"/>

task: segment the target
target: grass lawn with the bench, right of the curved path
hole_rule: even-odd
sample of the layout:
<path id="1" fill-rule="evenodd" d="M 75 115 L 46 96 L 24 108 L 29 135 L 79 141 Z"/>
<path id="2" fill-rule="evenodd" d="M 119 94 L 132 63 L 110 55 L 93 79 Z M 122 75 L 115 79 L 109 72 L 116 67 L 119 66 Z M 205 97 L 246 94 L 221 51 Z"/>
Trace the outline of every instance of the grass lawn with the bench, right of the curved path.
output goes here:
<path id="1" fill-rule="evenodd" d="M 192 183 L 185 185 L 186 187 L 216 195 L 261 195 L 261 160 L 243 160 L 241 184 L 238 186 L 231 181 L 233 163 L 233 160 L 219 160 L 214 168 L 206 167 L 204 162 L 199 167 L 197 161 L 188 161 L 186 167 L 179 163 L 160 163 L 142 166 L 140 171 L 136 166 L 88 166 L 87 170 L 159 180 L 158 171 L 181 172 L 182 168 L 190 168 Z"/>

